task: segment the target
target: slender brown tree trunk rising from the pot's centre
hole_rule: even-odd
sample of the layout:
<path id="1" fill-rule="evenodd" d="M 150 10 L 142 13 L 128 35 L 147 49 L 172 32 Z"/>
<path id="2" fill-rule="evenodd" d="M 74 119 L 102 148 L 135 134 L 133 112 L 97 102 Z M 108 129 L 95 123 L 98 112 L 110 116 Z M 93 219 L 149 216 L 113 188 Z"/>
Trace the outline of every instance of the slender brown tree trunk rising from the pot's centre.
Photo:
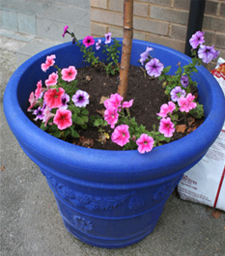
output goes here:
<path id="1" fill-rule="evenodd" d="M 133 38 L 133 0 L 124 1 L 124 40 L 121 58 L 120 84 L 118 93 L 126 99 L 128 84 L 128 68 Z"/>

